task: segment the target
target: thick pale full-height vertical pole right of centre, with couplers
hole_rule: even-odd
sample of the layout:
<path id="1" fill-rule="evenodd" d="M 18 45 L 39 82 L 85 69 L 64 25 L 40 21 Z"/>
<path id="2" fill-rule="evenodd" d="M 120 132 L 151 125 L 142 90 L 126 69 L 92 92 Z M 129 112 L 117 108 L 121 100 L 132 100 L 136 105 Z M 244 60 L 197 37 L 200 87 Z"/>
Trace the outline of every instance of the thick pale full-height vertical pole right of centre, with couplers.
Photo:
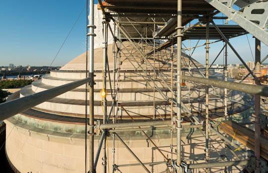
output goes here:
<path id="1" fill-rule="evenodd" d="M 182 109 L 181 109 L 181 58 L 182 58 L 182 0 L 178 0 L 177 11 L 177 166 L 182 162 Z M 180 169 L 178 170 L 180 173 Z"/>

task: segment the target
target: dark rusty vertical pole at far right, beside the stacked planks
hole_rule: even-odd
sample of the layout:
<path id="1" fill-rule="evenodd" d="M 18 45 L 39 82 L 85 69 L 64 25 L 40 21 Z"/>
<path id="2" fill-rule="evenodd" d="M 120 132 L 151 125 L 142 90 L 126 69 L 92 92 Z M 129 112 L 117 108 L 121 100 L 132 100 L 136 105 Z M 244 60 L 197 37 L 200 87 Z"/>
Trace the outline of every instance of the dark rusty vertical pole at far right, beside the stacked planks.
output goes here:
<path id="1" fill-rule="evenodd" d="M 261 85 L 261 41 L 255 38 L 255 80 L 256 85 Z M 260 126 L 260 109 L 261 109 L 261 97 L 260 95 L 254 95 L 255 97 L 255 157 L 256 157 L 256 169 L 255 173 L 260 173 L 260 157 L 261 157 L 261 126 Z"/>

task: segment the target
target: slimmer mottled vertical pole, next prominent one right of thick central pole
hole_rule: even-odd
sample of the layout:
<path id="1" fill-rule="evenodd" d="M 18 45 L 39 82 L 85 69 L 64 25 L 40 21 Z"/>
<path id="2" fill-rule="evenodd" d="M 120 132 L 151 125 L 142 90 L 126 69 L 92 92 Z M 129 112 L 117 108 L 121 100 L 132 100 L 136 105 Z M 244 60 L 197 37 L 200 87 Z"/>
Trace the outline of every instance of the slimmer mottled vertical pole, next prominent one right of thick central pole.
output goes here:
<path id="1" fill-rule="evenodd" d="M 206 47 L 205 47 L 205 78 L 209 77 L 209 16 L 206 18 Z M 209 140 L 209 122 L 208 122 L 208 86 L 205 87 L 205 162 L 208 162 L 209 159 L 209 151 L 208 151 L 208 140 Z M 209 169 L 205 169 L 206 173 L 209 173 Z"/>

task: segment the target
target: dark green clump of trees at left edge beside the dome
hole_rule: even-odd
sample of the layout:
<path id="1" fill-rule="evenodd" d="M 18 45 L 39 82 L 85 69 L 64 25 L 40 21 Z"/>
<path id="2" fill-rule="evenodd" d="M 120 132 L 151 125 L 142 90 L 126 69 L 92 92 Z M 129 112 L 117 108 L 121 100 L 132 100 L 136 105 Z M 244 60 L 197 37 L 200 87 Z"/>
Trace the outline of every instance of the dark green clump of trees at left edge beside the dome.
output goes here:
<path id="1" fill-rule="evenodd" d="M 21 86 L 27 86 L 32 83 L 32 80 L 3 80 L 0 81 L 0 89 L 17 88 Z"/>

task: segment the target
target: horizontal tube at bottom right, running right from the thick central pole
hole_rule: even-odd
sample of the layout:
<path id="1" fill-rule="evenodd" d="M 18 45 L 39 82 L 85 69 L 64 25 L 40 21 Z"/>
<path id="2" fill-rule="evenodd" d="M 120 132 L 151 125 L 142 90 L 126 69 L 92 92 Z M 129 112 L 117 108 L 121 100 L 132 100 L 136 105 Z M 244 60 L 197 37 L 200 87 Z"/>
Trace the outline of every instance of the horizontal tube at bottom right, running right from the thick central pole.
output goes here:
<path id="1" fill-rule="evenodd" d="M 245 166 L 249 163 L 249 160 L 241 161 L 228 161 L 228 162 L 211 162 L 201 164 L 190 164 L 189 169 L 201 169 L 201 168 L 217 168 L 217 167 L 232 167 L 232 166 Z"/>

